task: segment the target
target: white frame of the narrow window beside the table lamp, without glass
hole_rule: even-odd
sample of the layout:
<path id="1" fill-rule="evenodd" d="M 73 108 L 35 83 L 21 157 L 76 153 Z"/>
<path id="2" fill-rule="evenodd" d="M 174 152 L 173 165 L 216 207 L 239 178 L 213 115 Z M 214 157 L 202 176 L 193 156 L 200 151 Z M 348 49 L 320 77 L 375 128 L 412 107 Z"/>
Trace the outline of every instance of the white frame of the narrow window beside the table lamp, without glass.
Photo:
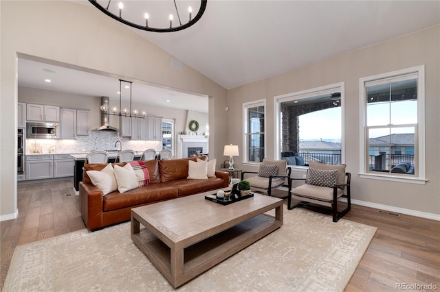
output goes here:
<path id="1" fill-rule="evenodd" d="M 243 149 L 242 149 L 242 153 L 243 153 L 243 165 L 260 165 L 261 162 L 256 162 L 256 161 L 249 161 L 248 157 L 249 157 L 249 153 L 248 153 L 248 136 L 250 135 L 250 133 L 248 132 L 249 129 L 249 124 L 248 124 L 248 117 L 249 117 L 249 108 L 255 108 L 258 106 L 263 106 L 264 107 L 264 130 L 266 131 L 267 129 L 267 106 L 266 106 L 266 99 L 259 99 L 259 100 L 255 100 L 255 101 L 248 101 L 243 103 Z M 252 134 L 256 134 L 257 132 L 252 132 Z M 264 149 L 264 157 L 267 156 L 267 136 L 265 134 L 265 132 L 258 132 L 258 134 L 264 134 L 264 139 L 263 139 L 263 149 Z"/>

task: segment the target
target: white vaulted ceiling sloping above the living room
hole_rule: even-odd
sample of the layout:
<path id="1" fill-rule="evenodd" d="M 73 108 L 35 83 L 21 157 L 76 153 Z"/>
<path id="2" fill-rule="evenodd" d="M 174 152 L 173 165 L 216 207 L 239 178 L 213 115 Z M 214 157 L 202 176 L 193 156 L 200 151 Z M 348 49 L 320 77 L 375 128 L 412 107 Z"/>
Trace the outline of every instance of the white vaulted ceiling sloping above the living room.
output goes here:
<path id="1" fill-rule="evenodd" d="M 97 19 L 103 15 L 89 1 L 72 2 L 88 5 Z M 145 1 L 122 2 L 129 5 Z M 195 0 L 177 0 L 178 5 L 185 6 L 186 2 Z M 129 28 L 230 89 L 439 23 L 440 1 L 208 0 L 205 14 L 188 29 L 155 33 Z M 25 80 L 25 74 L 21 74 L 27 69 L 21 69 L 19 84 L 33 87 L 32 80 Z M 36 70 L 42 69 L 47 68 L 43 65 Z M 81 76 L 80 71 L 75 74 L 83 80 L 91 78 Z M 31 79 L 32 73 L 27 76 Z M 94 88 L 99 90 L 96 84 Z M 108 87 L 103 83 L 96 95 L 106 95 L 104 89 Z M 173 94 L 165 90 L 155 96 L 163 102 Z M 190 98 L 180 99 L 179 106 L 187 106 Z M 195 99 L 201 104 L 200 111 L 207 111 L 207 99 L 202 98 L 202 103 L 201 97 Z"/>

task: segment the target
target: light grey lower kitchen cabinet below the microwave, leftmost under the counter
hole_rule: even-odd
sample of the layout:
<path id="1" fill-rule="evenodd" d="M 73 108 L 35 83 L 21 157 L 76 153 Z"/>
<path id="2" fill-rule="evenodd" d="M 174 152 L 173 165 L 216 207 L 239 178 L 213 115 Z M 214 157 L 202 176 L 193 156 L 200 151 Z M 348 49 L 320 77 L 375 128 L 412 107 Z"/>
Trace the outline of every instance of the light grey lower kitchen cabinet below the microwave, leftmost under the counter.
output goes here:
<path id="1" fill-rule="evenodd" d="M 26 156 L 26 180 L 42 180 L 54 177 L 52 155 Z"/>

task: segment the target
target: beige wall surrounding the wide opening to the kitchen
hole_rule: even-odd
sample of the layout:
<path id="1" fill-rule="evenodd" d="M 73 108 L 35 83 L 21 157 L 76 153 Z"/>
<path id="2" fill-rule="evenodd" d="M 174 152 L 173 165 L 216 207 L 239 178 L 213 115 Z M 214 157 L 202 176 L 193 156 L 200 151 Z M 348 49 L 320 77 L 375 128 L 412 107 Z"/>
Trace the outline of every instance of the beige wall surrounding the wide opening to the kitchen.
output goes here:
<path id="1" fill-rule="evenodd" d="M 226 127 L 220 109 L 226 105 L 225 88 L 185 64 L 183 70 L 173 69 L 173 56 L 94 7 L 68 1 L 1 1 L 0 9 L 1 220 L 17 212 L 17 145 L 11 142 L 17 135 L 17 53 L 210 96 L 210 155 L 223 158 Z"/>

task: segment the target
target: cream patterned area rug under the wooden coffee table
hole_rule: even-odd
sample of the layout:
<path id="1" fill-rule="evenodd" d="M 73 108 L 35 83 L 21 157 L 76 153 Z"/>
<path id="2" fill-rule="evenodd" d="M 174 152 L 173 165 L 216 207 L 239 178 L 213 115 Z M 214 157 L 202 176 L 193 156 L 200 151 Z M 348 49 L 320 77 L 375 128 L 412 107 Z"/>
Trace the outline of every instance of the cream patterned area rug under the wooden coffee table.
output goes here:
<path id="1" fill-rule="evenodd" d="M 19 245 L 3 291 L 344 291 L 376 229 L 285 208 L 281 228 L 174 289 L 122 223 Z"/>

